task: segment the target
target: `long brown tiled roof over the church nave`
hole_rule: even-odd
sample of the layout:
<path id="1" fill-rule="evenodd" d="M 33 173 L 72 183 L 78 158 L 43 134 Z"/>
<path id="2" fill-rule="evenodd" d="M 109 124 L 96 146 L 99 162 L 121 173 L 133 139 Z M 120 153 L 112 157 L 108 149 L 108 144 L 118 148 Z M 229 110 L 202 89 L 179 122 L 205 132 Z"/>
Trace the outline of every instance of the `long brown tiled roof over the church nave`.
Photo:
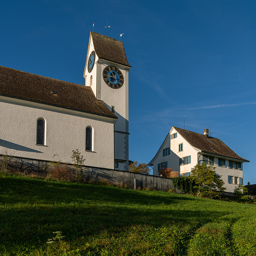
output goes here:
<path id="1" fill-rule="evenodd" d="M 0 95 L 117 118 L 103 101 L 96 99 L 89 86 L 3 66 L 0 66 Z"/>

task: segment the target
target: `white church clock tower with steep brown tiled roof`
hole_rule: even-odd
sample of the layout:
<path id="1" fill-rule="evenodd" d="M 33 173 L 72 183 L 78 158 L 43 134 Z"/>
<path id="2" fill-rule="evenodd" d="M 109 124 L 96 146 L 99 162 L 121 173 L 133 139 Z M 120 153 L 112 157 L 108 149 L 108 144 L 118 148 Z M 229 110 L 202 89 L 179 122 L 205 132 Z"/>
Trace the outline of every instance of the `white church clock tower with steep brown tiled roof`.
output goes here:
<path id="1" fill-rule="evenodd" d="M 121 41 L 91 32 L 84 68 L 85 86 L 118 117 L 114 124 L 117 170 L 129 170 L 129 69 Z M 106 134 L 107 136 L 107 134 Z M 104 139 L 104 138 L 102 138 Z"/>

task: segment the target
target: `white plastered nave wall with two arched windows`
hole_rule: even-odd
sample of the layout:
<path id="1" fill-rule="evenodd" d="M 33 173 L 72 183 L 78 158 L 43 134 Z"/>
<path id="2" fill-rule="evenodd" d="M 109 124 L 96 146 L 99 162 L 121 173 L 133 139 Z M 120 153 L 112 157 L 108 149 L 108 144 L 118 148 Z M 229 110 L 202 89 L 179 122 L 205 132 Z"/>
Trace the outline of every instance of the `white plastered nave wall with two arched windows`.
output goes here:
<path id="1" fill-rule="evenodd" d="M 92 114 L 87 114 L 86 117 L 83 116 L 86 114 L 78 111 L 69 111 L 68 114 L 68 110 L 59 107 L 15 99 L 10 99 L 12 103 L 8 103 L 4 102 L 8 100 L 6 97 L 1 99 L 0 142 L 3 144 L 7 141 L 10 154 L 32 159 L 70 162 L 72 150 L 78 149 L 86 159 L 84 164 L 114 168 L 113 119 Z M 36 121 L 40 117 L 46 121 L 46 145 L 36 145 Z M 93 152 L 85 151 L 87 126 L 91 126 L 94 131 Z M 0 144 L 0 150 L 2 149 L 3 145 Z M 58 157 L 53 159 L 54 154 Z"/>

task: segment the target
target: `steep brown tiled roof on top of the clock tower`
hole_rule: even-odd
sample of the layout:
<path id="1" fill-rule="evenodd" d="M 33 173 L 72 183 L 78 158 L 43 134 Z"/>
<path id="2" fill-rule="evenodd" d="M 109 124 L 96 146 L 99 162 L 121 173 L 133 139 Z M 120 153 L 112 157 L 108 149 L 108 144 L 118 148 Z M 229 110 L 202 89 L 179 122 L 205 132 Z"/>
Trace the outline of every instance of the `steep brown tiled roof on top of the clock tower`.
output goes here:
<path id="1" fill-rule="evenodd" d="M 99 58 L 131 67 L 126 58 L 123 42 L 91 32 L 94 50 Z"/>

